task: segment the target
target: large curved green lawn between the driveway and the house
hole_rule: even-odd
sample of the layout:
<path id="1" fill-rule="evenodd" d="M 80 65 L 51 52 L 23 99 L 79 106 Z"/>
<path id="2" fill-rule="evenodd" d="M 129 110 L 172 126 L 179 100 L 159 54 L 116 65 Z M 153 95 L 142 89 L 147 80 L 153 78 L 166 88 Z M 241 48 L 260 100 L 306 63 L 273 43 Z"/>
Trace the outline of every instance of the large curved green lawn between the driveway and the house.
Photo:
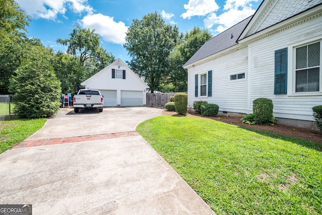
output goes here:
<path id="1" fill-rule="evenodd" d="M 162 115 L 137 131 L 217 214 L 321 214 L 322 145 Z"/>

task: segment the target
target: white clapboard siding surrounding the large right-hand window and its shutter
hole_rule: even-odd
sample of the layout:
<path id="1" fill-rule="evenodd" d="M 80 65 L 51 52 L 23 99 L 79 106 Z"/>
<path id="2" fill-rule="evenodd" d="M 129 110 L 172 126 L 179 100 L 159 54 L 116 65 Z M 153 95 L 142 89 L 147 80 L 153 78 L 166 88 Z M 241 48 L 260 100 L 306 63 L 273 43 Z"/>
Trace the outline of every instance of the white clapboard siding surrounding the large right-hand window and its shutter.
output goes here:
<path id="1" fill-rule="evenodd" d="M 282 1 L 280 1 L 282 2 Z M 312 107 L 322 104 L 322 95 L 295 94 L 293 76 L 293 47 L 322 38 L 322 17 L 303 21 L 292 28 L 273 33 L 249 44 L 250 53 L 250 110 L 259 97 L 273 100 L 274 116 L 313 121 Z M 274 53 L 288 48 L 287 95 L 274 95 Z M 320 92 L 322 89 L 320 89 Z"/>

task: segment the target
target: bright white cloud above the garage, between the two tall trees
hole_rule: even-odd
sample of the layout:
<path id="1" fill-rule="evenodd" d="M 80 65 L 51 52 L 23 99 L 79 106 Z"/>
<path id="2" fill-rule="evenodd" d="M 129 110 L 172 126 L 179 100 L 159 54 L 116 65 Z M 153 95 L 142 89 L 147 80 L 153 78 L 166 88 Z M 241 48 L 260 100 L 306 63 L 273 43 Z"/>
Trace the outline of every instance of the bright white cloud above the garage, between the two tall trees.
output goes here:
<path id="1" fill-rule="evenodd" d="M 87 15 L 82 20 L 82 27 L 95 29 L 107 42 L 124 44 L 128 27 L 123 22 L 115 22 L 114 17 L 103 14 Z"/>

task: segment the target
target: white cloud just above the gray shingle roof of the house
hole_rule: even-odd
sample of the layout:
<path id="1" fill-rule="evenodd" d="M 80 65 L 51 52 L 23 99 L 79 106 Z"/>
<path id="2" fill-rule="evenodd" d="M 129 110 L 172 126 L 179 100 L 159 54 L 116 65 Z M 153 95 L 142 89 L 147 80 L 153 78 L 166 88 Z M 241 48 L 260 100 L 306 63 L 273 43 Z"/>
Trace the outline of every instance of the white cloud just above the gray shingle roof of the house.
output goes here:
<path id="1" fill-rule="evenodd" d="M 252 16 L 254 13 L 255 10 L 250 8 L 244 8 L 243 10 L 230 9 L 219 16 L 212 13 L 204 19 L 204 25 L 206 28 L 211 28 L 213 25 L 219 25 L 216 31 L 223 32 L 240 21 Z"/>

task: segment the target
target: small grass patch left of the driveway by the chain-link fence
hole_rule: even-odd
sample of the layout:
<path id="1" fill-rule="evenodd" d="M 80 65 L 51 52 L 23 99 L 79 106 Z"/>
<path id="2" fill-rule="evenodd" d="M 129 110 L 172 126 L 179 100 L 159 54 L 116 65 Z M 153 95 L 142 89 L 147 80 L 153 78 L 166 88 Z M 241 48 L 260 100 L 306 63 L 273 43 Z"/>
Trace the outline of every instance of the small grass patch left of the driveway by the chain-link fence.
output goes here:
<path id="1" fill-rule="evenodd" d="M 47 119 L 14 119 L 0 122 L 0 153 L 42 128 Z"/>

